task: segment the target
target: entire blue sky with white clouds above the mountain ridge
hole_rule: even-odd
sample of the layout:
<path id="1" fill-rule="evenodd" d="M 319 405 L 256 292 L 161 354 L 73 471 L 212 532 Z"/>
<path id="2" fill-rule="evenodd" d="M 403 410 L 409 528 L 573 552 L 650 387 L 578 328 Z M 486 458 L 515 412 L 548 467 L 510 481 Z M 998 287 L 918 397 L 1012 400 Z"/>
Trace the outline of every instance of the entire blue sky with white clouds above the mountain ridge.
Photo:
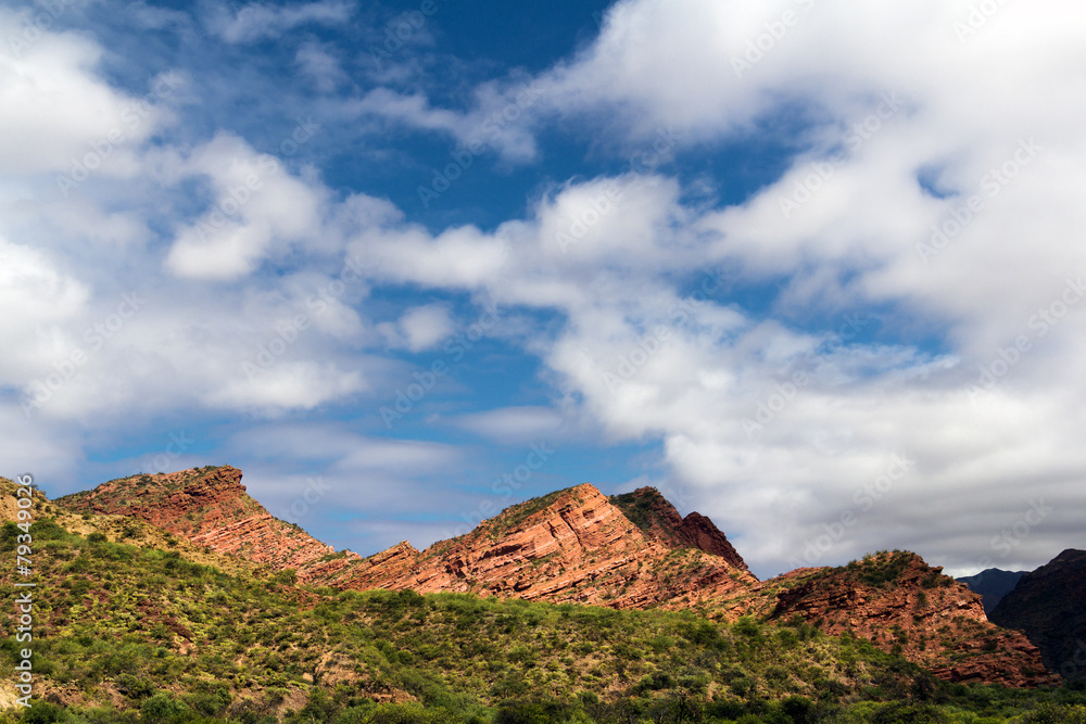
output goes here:
<path id="1" fill-rule="evenodd" d="M 0 7 L 0 472 L 421 548 L 591 482 L 768 577 L 1086 547 L 1086 7 Z"/>

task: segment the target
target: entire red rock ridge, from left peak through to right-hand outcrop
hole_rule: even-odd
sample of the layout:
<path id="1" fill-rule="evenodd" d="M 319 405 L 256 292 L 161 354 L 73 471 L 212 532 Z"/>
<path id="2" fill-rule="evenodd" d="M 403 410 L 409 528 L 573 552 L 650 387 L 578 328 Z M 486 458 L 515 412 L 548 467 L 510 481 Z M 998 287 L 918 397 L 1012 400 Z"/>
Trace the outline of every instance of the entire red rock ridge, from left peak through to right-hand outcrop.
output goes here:
<path id="1" fill-rule="evenodd" d="M 582 484 L 512 506 L 425 550 L 403 542 L 363 558 L 274 518 L 240 481 L 236 468 L 202 468 L 110 481 L 58 503 L 139 518 L 316 586 L 693 610 L 722 623 L 798 620 L 867 638 L 947 681 L 1057 681 L 1023 635 L 988 623 L 978 595 L 914 554 L 759 582 L 708 518 L 681 517 L 653 488 L 609 498 Z"/>

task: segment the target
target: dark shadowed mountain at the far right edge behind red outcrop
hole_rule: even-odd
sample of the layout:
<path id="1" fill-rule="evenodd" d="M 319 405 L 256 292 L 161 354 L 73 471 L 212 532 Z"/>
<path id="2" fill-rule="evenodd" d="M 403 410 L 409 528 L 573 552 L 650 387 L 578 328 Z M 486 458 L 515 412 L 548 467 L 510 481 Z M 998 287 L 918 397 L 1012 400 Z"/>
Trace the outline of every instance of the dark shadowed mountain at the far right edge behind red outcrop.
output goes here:
<path id="1" fill-rule="evenodd" d="M 1049 670 L 1086 681 L 1086 550 L 1069 548 L 1026 573 L 990 613 L 1025 633 Z"/>

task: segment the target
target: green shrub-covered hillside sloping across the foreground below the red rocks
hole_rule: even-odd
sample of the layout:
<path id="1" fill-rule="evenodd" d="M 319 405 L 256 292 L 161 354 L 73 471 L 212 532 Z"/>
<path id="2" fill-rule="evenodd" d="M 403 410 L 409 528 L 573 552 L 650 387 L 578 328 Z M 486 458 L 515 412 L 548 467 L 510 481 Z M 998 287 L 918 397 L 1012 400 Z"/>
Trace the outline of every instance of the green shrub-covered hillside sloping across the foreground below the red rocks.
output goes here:
<path id="1" fill-rule="evenodd" d="M 0 486 L 10 499 L 14 487 Z M 290 572 L 231 574 L 189 558 L 217 554 L 163 550 L 165 533 L 115 539 L 126 535 L 115 519 L 71 518 L 43 497 L 34 512 L 36 721 L 829 721 L 847 711 L 861 722 L 1086 700 L 1014 689 L 977 698 L 799 620 L 300 587 Z M 60 520 L 96 530 L 80 535 Z M 10 521 L 0 531 L 9 557 L 18 533 Z M 0 574 L 8 631 L 13 576 L 11 567 Z M 0 648 L 13 665 L 14 640 Z"/>

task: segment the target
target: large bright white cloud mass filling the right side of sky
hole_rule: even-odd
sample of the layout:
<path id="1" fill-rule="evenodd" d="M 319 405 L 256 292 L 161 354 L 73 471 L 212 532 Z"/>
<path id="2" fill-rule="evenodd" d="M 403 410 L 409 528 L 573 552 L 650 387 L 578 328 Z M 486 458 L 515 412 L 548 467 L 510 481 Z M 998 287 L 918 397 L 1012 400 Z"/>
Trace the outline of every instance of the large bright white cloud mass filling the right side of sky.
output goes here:
<path id="1" fill-rule="evenodd" d="M 746 60 L 785 12 L 783 37 Z M 1081 507 L 1086 467 L 1065 431 L 1083 422 L 1070 401 L 1086 257 L 1068 240 L 1086 228 L 1072 198 L 1086 149 L 1062 104 L 1084 88 L 1068 59 L 1086 59 L 1066 26 L 1024 8 L 963 35 L 968 12 L 620 3 L 596 42 L 540 77 L 548 110 L 619 117 L 633 145 L 667 128 L 682 153 L 798 106 L 806 148 L 778 180 L 708 211 L 656 176 L 568 183 L 522 223 L 471 231 L 476 254 L 457 257 L 507 253 L 470 275 L 395 263 L 406 249 L 451 257 L 464 232 L 356 243 L 395 279 L 561 309 L 541 353 L 559 390 L 614 440 L 661 440 L 693 507 L 762 571 L 887 536 L 961 571 L 1043 558 L 1060 512 L 1048 537 L 993 538 L 1031 495 Z M 1027 62 L 1008 50 L 1023 46 Z M 675 287 L 714 268 L 780 284 L 776 320 Z M 826 533 L 846 511 L 848 529 Z"/>

